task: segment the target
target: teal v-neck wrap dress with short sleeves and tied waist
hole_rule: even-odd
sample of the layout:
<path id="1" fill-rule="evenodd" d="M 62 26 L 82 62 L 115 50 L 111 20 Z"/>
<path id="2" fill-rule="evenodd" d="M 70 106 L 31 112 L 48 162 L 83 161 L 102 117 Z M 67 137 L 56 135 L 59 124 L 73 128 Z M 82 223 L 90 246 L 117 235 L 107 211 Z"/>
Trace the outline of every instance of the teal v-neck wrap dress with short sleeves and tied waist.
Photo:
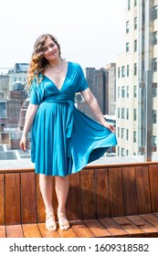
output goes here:
<path id="1" fill-rule="evenodd" d="M 32 83 L 29 101 L 39 105 L 31 131 L 31 161 L 37 174 L 74 174 L 117 144 L 115 133 L 75 107 L 75 93 L 87 88 L 83 70 L 74 62 L 68 62 L 60 90 L 47 76 Z"/>

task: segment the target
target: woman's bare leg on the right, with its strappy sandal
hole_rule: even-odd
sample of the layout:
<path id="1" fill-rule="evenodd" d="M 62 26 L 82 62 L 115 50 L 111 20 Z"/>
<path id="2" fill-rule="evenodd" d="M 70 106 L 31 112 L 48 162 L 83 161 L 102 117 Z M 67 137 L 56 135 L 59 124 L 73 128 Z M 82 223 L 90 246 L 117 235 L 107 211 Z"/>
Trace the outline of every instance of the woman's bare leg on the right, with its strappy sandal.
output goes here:
<path id="1" fill-rule="evenodd" d="M 56 194 L 58 197 L 58 224 L 60 229 L 62 230 L 67 230 L 69 228 L 68 219 L 66 217 L 68 187 L 68 176 L 56 176 Z"/>

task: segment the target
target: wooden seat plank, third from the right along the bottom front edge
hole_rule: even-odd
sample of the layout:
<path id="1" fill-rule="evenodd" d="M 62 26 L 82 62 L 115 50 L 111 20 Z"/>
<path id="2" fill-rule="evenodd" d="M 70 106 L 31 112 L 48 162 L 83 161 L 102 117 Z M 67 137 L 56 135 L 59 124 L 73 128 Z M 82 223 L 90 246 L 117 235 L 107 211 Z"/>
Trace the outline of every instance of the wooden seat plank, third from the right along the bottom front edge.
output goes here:
<path id="1" fill-rule="evenodd" d="M 112 237 L 129 237 L 129 234 L 126 230 L 122 229 L 120 225 L 118 225 L 113 219 L 111 218 L 102 218 L 99 219 L 100 223 L 108 229 L 111 233 Z"/>

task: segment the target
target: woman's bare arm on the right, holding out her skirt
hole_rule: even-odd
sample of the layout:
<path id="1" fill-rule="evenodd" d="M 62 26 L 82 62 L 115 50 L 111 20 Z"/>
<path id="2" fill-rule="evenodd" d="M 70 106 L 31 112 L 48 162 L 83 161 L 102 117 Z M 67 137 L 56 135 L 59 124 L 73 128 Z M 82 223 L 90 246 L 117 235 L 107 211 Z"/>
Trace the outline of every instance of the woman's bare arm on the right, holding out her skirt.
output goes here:
<path id="1" fill-rule="evenodd" d="M 95 114 L 98 121 L 104 127 L 108 128 L 111 132 L 115 132 L 115 128 L 110 123 L 105 121 L 103 114 L 100 111 L 99 103 L 93 93 L 90 91 L 90 88 L 86 89 L 85 91 L 81 91 L 80 93 L 83 96 L 84 100 L 87 102 L 87 104 L 90 106 L 91 111 Z"/>

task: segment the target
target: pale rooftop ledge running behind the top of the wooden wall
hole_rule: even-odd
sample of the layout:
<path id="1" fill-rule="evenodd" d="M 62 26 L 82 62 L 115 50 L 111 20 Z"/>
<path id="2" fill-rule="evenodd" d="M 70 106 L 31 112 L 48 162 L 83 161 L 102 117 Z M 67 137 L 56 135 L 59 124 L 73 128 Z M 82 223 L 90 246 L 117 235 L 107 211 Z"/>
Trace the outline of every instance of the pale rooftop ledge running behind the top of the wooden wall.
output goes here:
<path id="1" fill-rule="evenodd" d="M 85 166 L 84 169 L 100 168 L 100 167 L 112 167 L 112 166 L 128 166 L 128 165 L 145 165 L 143 155 L 132 156 L 103 156 L 99 160 L 91 162 Z M 151 164 L 158 163 L 158 157 L 155 157 Z M 9 171 L 32 171 L 35 169 L 35 165 L 31 163 L 30 159 L 18 159 L 18 160 L 0 160 L 0 173 Z"/>

